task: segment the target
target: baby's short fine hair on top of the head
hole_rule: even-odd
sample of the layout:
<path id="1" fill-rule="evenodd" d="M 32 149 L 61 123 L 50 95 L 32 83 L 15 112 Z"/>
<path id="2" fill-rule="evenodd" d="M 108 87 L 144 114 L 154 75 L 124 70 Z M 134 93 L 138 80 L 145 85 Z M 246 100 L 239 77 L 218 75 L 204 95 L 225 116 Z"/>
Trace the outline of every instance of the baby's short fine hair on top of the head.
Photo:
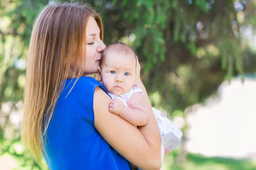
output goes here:
<path id="1" fill-rule="evenodd" d="M 123 42 L 116 42 L 108 45 L 102 51 L 102 57 L 99 63 L 100 68 L 102 68 L 102 65 L 105 62 L 106 55 L 108 55 L 109 52 L 116 52 L 118 54 L 125 54 L 125 55 L 133 55 L 135 57 L 135 61 L 137 65 L 137 55 L 135 54 L 134 50 Z"/>

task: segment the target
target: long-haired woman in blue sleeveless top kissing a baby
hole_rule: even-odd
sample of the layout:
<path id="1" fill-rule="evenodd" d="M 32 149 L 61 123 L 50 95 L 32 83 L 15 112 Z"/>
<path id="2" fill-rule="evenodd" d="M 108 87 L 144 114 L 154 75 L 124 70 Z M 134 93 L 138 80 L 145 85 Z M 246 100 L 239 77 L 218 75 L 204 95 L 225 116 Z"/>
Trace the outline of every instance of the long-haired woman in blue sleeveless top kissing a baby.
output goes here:
<path id="1" fill-rule="evenodd" d="M 134 127 L 108 111 L 97 73 L 105 49 L 102 20 L 88 6 L 46 6 L 32 30 L 24 93 L 22 138 L 50 170 L 128 170 L 161 167 L 160 135 L 148 95 L 148 123 Z M 137 86 L 145 91 L 137 67 Z M 128 161 L 127 161 L 128 160 Z"/>

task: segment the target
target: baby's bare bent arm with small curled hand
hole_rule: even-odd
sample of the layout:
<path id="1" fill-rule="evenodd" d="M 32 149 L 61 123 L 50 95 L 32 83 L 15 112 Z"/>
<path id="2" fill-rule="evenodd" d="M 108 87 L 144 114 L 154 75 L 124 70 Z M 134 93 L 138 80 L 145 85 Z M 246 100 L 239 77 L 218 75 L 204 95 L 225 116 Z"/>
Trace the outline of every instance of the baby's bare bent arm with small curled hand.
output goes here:
<path id="1" fill-rule="evenodd" d="M 127 105 L 129 107 L 123 105 L 121 100 L 113 99 L 109 105 L 109 111 L 136 126 L 143 126 L 148 122 L 147 107 L 140 93 L 132 94 Z"/>

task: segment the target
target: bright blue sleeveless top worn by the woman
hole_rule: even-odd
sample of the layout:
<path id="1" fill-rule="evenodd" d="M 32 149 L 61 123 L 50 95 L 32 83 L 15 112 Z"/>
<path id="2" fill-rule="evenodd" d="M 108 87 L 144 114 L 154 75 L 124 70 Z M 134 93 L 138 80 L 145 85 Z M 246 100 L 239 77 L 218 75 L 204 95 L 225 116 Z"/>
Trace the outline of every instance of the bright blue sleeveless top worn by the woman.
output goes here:
<path id="1" fill-rule="evenodd" d="M 92 77 L 67 79 L 47 130 L 44 159 L 50 170 L 131 170 L 94 126 L 93 94 L 105 88 Z M 67 96 L 67 97 L 66 97 Z"/>

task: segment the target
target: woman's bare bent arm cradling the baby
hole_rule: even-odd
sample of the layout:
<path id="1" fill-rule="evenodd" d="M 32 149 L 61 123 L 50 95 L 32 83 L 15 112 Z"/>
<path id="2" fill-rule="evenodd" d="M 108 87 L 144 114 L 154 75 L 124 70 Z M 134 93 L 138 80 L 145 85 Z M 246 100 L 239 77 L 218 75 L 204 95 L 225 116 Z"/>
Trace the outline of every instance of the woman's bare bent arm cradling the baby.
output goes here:
<path id="1" fill-rule="evenodd" d="M 110 102 L 111 98 L 101 88 L 96 88 L 93 98 L 96 129 L 117 152 L 137 167 L 159 170 L 160 134 L 152 109 L 148 123 L 138 130 L 120 116 L 109 112 Z"/>

